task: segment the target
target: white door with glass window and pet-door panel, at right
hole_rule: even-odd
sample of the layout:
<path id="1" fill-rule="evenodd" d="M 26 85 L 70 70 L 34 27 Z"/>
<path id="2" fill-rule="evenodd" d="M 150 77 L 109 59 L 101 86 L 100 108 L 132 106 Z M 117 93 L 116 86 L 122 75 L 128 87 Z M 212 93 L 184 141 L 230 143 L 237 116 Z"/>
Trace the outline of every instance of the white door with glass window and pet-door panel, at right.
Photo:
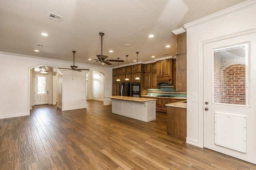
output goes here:
<path id="1" fill-rule="evenodd" d="M 204 147 L 256 163 L 256 33 L 204 44 Z"/>

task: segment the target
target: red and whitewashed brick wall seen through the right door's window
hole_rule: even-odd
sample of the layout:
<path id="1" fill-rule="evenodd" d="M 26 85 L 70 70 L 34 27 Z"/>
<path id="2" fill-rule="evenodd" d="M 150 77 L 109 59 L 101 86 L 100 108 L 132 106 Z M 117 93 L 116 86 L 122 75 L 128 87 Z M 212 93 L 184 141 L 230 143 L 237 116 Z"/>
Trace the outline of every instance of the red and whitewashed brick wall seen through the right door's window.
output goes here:
<path id="1" fill-rule="evenodd" d="M 244 63 L 243 55 L 220 56 L 220 53 L 214 53 L 214 102 L 246 104 Z"/>

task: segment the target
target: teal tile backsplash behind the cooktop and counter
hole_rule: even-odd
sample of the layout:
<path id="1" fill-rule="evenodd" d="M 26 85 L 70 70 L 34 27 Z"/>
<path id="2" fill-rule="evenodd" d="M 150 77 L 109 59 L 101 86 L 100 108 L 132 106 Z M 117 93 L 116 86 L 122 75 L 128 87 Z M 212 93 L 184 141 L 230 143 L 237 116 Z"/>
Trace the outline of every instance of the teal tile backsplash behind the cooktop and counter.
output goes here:
<path id="1" fill-rule="evenodd" d="M 178 92 L 173 88 L 173 84 L 161 83 L 158 89 L 148 89 L 147 95 L 159 96 L 159 95 L 170 95 L 175 97 L 187 97 L 187 92 Z"/>

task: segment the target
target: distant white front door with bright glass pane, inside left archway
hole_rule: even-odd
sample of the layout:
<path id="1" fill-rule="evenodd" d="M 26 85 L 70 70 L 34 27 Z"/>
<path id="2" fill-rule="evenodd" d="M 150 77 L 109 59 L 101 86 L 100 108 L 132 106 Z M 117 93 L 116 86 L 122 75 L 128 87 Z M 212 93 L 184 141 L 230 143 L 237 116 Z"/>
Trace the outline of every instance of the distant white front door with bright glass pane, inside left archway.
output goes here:
<path id="1" fill-rule="evenodd" d="M 35 74 L 34 105 L 49 104 L 49 75 Z"/>

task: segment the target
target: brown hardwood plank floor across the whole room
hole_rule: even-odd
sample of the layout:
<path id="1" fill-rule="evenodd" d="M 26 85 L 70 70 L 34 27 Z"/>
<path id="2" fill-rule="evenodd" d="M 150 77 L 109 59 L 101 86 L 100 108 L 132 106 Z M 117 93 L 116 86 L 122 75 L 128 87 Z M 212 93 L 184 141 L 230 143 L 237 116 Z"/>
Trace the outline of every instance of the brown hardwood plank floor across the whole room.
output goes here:
<path id="1" fill-rule="evenodd" d="M 87 109 L 33 106 L 30 116 L 0 119 L 0 170 L 256 170 L 256 165 L 166 134 L 166 114 L 148 123 Z"/>

